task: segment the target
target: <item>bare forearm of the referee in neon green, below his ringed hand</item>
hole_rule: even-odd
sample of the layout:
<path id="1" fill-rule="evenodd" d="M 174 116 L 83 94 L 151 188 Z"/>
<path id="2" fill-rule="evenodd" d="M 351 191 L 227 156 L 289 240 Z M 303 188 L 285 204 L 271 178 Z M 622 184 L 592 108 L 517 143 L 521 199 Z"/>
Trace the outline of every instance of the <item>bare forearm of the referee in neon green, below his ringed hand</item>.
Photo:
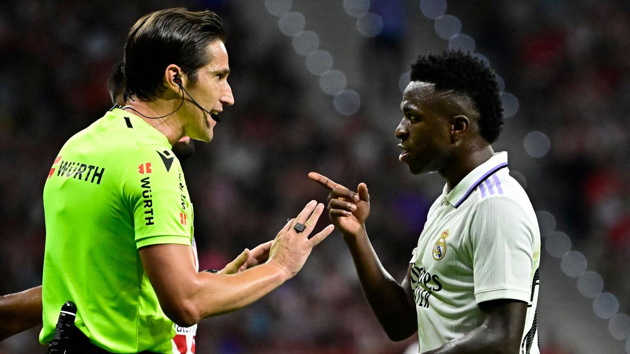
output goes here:
<path id="1" fill-rule="evenodd" d="M 185 324 L 241 309 L 288 279 L 287 272 L 273 261 L 232 275 L 200 272 L 186 294 L 189 317 Z"/>

